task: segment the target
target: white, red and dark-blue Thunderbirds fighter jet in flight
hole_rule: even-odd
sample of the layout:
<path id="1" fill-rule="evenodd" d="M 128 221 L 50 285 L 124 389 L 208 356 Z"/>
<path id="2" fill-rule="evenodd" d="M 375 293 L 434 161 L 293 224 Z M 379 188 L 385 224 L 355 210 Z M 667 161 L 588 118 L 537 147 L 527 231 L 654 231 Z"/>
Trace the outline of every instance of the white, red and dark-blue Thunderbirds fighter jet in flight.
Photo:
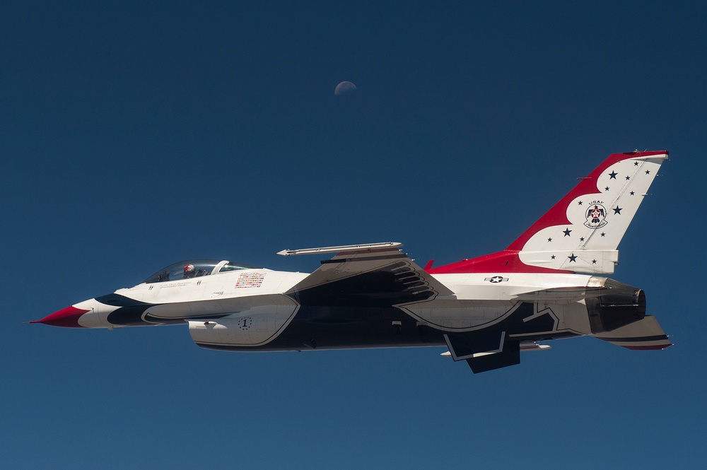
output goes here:
<path id="1" fill-rule="evenodd" d="M 223 351 L 446 346 L 443 355 L 473 372 L 518 364 L 521 351 L 575 336 L 667 348 L 643 290 L 606 277 L 667 158 L 609 155 L 506 249 L 474 259 L 422 268 L 399 242 L 278 253 L 333 254 L 312 274 L 192 259 L 33 323 L 187 324 L 197 345 Z"/>

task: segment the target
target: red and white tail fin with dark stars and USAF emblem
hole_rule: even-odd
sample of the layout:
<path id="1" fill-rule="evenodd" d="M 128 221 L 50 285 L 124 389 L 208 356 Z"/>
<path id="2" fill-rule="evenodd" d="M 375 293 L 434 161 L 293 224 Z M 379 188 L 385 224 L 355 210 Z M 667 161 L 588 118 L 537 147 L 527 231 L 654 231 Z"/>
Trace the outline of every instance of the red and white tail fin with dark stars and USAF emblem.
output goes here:
<path id="1" fill-rule="evenodd" d="M 617 247 L 667 151 L 614 153 L 503 252 L 432 269 L 612 274 Z"/>

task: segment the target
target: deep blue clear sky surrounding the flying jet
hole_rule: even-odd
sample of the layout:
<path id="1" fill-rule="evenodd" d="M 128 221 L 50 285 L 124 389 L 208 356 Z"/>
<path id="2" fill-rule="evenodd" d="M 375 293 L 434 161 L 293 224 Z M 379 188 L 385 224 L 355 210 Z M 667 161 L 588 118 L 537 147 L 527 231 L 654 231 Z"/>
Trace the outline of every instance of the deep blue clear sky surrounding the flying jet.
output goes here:
<path id="1" fill-rule="evenodd" d="M 226 2 L 224 2 L 226 3 Z M 6 1 L 0 464 L 683 468 L 704 459 L 697 2 Z M 358 90 L 335 96 L 341 81 Z M 609 153 L 670 151 L 612 276 L 677 344 L 218 353 L 22 324 L 181 259 L 503 249 Z"/>

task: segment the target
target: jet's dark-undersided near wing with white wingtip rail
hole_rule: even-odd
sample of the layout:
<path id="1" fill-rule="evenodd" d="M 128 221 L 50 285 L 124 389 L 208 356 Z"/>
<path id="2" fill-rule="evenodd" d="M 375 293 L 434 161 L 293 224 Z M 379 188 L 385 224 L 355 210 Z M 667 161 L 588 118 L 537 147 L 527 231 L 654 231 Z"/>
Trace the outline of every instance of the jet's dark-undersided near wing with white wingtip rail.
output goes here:
<path id="1" fill-rule="evenodd" d="M 431 300 L 452 291 L 401 252 L 397 242 L 283 250 L 293 254 L 336 253 L 286 295 L 300 305 L 392 307 Z"/>

